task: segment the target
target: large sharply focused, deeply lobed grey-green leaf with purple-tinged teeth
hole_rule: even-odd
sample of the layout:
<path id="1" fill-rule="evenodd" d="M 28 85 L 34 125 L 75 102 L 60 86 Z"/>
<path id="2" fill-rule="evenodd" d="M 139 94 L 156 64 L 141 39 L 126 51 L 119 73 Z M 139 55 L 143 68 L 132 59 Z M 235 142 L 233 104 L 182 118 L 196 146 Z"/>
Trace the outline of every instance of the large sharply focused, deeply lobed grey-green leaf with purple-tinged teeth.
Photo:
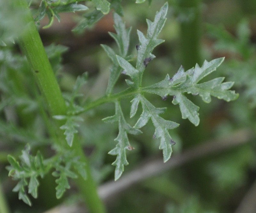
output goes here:
<path id="1" fill-rule="evenodd" d="M 164 42 L 164 40 L 158 39 L 157 36 L 164 27 L 167 11 L 168 4 L 165 3 L 160 11 L 156 12 L 153 22 L 147 19 L 148 30 L 146 36 L 141 31 L 137 31 L 140 43 L 136 45 L 137 62 L 135 67 L 129 62 L 129 57 L 127 59 L 127 52 L 124 52 L 124 49 L 122 49 L 129 44 L 126 39 L 129 38 L 130 29 L 124 31 L 124 23 L 121 23 L 122 20 L 119 16 L 114 15 L 117 34 L 115 36 L 112 35 L 119 47 L 119 55 L 116 55 L 115 57 L 113 49 L 106 45 L 102 45 L 114 64 L 109 79 L 110 86 L 108 85 L 108 88 L 111 89 L 108 89 L 108 96 L 111 97 L 112 88 L 119 75 L 123 73 L 130 77 L 130 79 L 125 80 L 129 86 L 126 92 L 129 96 L 133 96 L 130 117 L 132 118 L 135 116 L 139 104 L 142 107 L 140 118 L 137 120 L 136 124 L 131 127 L 125 121 L 118 101 L 118 99 L 123 98 L 124 96 L 114 94 L 112 97 L 117 97 L 115 99 L 116 113 L 114 116 L 103 119 L 106 122 L 116 121 L 119 123 L 119 134 L 115 139 L 118 143 L 116 148 L 109 152 L 109 154 L 117 156 L 116 161 L 113 163 L 113 165 L 116 166 L 115 180 L 121 176 L 124 171 L 124 165 L 128 164 L 125 154 L 125 151 L 130 149 L 127 133 L 140 133 L 139 129 L 145 126 L 149 120 L 151 120 L 155 126 L 153 138 L 160 139 L 159 149 L 163 150 L 164 162 L 171 157 L 172 145 L 174 145 L 175 142 L 172 140 L 168 131 L 178 127 L 179 124 L 160 117 L 160 114 L 164 113 L 166 108 L 156 108 L 145 98 L 143 95 L 144 93 L 160 95 L 163 100 L 166 100 L 168 95 L 171 95 L 173 97 L 172 103 L 179 104 L 180 106 L 182 118 L 188 118 L 195 126 L 197 126 L 200 121 L 198 114 L 199 107 L 191 102 L 184 93 L 200 95 L 206 103 L 211 102 L 211 96 L 226 101 L 235 100 L 238 97 L 234 91 L 229 90 L 233 86 L 233 82 L 223 82 L 224 78 L 215 78 L 199 83 L 205 76 L 215 71 L 223 62 L 224 58 L 214 59 L 210 62 L 204 61 L 202 67 L 196 64 L 195 68 L 191 68 L 188 71 L 184 71 L 184 68 L 181 66 L 173 77 L 170 78 L 167 74 L 164 80 L 151 86 L 142 87 L 143 73 L 148 63 L 155 58 L 152 51 L 157 45 Z M 120 34 L 119 30 L 122 30 L 124 33 Z M 113 72 L 114 69 L 115 72 Z M 123 92 L 124 95 L 127 95 L 127 93 L 125 93 L 125 91 Z"/>

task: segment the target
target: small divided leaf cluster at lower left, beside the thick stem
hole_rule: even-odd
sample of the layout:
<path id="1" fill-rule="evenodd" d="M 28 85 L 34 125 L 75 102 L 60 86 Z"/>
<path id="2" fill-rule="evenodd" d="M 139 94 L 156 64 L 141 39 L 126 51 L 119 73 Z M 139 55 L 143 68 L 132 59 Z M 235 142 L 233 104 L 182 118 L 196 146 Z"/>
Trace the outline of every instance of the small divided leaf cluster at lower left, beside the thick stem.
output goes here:
<path id="1" fill-rule="evenodd" d="M 19 192 L 19 199 L 29 206 L 32 205 L 32 202 L 28 194 L 31 194 L 33 198 L 38 196 L 38 177 L 43 178 L 51 169 L 55 170 L 52 175 L 57 178 L 55 182 L 57 183 L 56 197 L 58 199 L 62 197 L 66 189 L 70 188 L 68 178 L 77 178 L 76 173 L 71 171 L 72 167 L 86 179 L 85 163 L 80 161 L 72 151 L 64 151 L 62 155 L 44 159 L 39 151 L 36 156 L 33 156 L 29 145 L 26 145 L 22 150 L 20 162 L 11 155 L 8 155 L 8 161 L 11 164 L 6 167 L 9 170 L 9 176 L 13 180 L 19 180 L 12 191 Z"/>

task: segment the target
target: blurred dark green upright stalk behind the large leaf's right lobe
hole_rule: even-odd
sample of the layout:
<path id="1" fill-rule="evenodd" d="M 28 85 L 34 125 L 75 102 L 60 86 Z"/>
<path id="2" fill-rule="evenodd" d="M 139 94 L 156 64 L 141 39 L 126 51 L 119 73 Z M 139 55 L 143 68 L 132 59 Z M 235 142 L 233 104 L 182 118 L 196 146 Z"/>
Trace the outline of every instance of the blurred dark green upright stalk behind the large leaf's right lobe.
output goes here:
<path id="1" fill-rule="evenodd" d="M 201 1 L 180 0 L 183 19 L 180 23 L 181 58 L 185 70 L 201 64 Z"/>

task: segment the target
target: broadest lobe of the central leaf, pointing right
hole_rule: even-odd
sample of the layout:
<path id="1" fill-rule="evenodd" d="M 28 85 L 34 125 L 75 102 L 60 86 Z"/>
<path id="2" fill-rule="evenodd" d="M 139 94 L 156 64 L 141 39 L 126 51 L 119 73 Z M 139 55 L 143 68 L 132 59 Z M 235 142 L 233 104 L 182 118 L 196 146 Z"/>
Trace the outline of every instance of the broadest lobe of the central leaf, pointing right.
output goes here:
<path id="1" fill-rule="evenodd" d="M 200 121 L 198 114 L 199 107 L 188 100 L 183 95 L 184 93 L 200 95 L 206 103 L 211 102 L 211 95 L 225 101 L 232 101 L 238 97 L 235 91 L 229 90 L 233 86 L 233 82 L 222 83 L 224 78 L 215 78 L 198 84 L 200 80 L 215 71 L 223 60 L 224 58 L 217 58 L 210 62 L 204 61 L 202 67 L 196 64 L 195 68 L 191 68 L 186 72 L 181 66 L 172 78 L 167 74 L 164 80 L 149 87 L 144 87 L 141 90 L 160 95 L 163 100 L 168 95 L 172 95 L 172 103 L 180 105 L 182 118 L 188 118 L 190 122 L 197 126 Z"/>

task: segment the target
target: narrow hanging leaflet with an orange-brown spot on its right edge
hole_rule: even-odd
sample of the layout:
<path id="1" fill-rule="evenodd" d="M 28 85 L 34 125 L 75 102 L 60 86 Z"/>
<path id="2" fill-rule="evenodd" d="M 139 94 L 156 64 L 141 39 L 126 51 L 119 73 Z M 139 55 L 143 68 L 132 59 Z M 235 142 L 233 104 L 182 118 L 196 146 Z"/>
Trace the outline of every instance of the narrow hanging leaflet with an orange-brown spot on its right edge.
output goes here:
<path id="1" fill-rule="evenodd" d="M 127 133 L 129 134 L 140 134 L 141 131 L 136 128 L 132 128 L 124 119 L 124 115 L 118 101 L 115 102 L 115 115 L 111 117 L 104 118 L 105 122 L 118 121 L 119 133 L 115 139 L 117 141 L 116 147 L 108 152 L 110 155 L 116 155 L 116 160 L 112 165 L 116 166 L 115 169 L 115 180 L 119 179 L 124 171 L 124 166 L 128 165 L 126 159 L 126 150 L 132 150 L 132 146 L 129 143 Z"/>

